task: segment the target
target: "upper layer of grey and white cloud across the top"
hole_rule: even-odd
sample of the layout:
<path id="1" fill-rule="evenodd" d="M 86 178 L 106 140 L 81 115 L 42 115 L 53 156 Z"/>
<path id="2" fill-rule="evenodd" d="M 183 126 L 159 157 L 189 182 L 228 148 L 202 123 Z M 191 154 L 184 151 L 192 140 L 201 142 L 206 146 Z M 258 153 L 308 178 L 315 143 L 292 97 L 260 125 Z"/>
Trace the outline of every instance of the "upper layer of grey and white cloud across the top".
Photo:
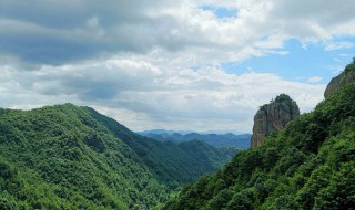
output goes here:
<path id="1" fill-rule="evenodd" d="M 235 11 L 221 19 L 214 10 Z M 241 61 L 275 53 L 287 39 L 355 35 L 352 0 L 1 1 L 0 53 L 60 65 L 118 52 L 155 49 L 196 62 Z"/>

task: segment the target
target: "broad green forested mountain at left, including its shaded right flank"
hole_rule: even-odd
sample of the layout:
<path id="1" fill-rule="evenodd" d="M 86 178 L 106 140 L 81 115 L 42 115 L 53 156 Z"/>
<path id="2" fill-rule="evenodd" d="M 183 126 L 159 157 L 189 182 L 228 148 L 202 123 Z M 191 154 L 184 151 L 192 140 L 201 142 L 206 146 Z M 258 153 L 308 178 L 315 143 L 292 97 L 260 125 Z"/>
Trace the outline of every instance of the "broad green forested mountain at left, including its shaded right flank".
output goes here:
<path id="1" fill-rule="evenodd" d="M 229 156 L 161 143 L 72 104 L 0 108 L 0 209 L 151 209 Z"/>

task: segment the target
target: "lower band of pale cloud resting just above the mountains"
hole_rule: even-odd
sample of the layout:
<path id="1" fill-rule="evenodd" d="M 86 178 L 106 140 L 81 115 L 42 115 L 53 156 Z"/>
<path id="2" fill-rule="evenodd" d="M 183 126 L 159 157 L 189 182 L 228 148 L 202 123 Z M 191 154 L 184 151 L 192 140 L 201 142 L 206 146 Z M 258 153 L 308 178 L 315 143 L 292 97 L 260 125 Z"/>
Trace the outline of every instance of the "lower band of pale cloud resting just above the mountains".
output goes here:
<path id="1" fill-rule="evenodd" d="M 0 80 L 7 83 L 0 90 L 1 101 L 16 107 L 64 102 L 92 105 L 136 130 L 251 132 L 257 107 L 277 94 L 290 94 L 308 112 L 322 99 L 325 87 L 274 74 L 227 74 L 213 66 L 163 71 L 149 59 L 113 57 L 31 72 L 2 66 L 6 73 Z M 7 99 L 11 94 L 17 97 Z"/>

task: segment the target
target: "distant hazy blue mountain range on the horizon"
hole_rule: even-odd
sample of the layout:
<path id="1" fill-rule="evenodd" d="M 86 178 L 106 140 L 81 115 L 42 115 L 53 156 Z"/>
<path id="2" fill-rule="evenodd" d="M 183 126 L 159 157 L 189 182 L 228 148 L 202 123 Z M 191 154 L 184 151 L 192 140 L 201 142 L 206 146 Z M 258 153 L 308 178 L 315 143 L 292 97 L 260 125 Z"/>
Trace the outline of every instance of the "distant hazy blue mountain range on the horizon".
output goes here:
<path id="1" fill-rule="evenodd" d="M 143 136 L 154 138 L 156 140 L 166 141 L 171 140 L 174 143 L 182 143 L 199 139 L 204 143 L 207 143 L 215 147 L 230 147 L 234 146 L 241 149 L 247 149 L 250 147 L 251 135 L 250 134 L 241 134 L 235 135 L 232 133 L 227 134 L 199 134 L 199 133 L 163 133 L 159 132 L 143 132 L 140 133 Z"/>

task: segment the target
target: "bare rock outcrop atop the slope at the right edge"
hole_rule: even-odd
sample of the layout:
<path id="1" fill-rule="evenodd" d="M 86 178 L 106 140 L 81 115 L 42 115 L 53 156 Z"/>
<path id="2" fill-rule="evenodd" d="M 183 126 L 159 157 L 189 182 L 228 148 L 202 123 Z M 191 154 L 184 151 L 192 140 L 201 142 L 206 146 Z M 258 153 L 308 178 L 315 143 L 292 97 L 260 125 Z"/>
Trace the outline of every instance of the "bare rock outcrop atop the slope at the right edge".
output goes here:
<path id="1" fill-rule="evenodd" d="M 324 92 L 324 97 L 327 98 L 331 94 L 347 84 L 355 84 L 355 61 L 348 64 L 344 72 L 331 81 Z"/>

